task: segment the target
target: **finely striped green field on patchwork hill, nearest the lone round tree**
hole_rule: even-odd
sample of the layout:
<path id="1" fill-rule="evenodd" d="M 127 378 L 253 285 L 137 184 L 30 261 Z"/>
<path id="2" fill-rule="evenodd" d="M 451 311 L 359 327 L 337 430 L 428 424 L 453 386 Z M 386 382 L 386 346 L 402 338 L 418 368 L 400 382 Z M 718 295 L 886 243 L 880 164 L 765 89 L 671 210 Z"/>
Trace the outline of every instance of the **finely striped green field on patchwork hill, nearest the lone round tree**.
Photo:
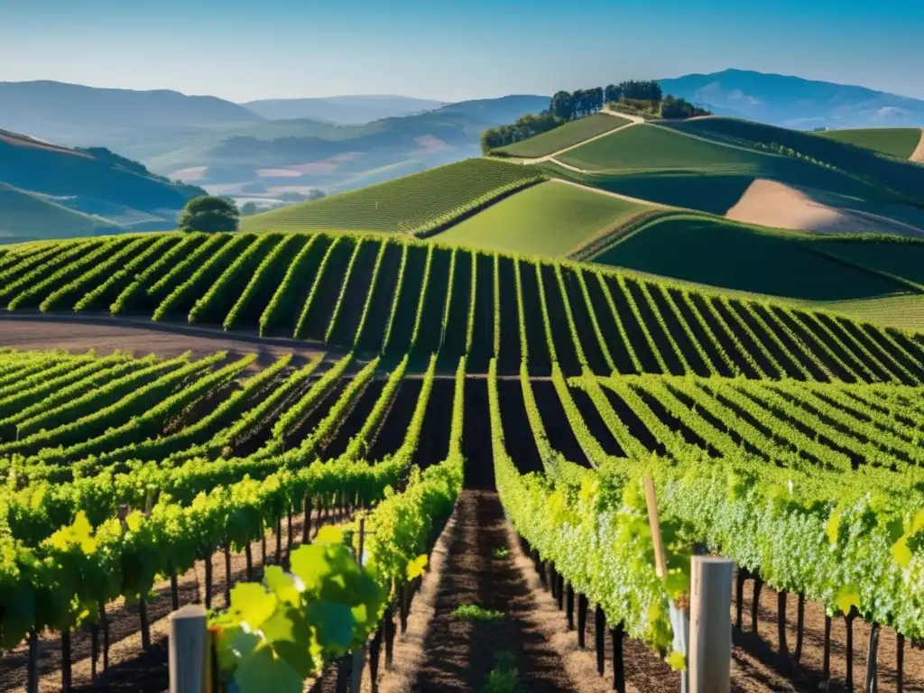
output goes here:
<path id="1" fill-rule="evenodd" d="M 468 159 L 241 220 L 242 231 L 349 229 L 411 233 L 481 195 L 538 172 L 519 164 Z"/>

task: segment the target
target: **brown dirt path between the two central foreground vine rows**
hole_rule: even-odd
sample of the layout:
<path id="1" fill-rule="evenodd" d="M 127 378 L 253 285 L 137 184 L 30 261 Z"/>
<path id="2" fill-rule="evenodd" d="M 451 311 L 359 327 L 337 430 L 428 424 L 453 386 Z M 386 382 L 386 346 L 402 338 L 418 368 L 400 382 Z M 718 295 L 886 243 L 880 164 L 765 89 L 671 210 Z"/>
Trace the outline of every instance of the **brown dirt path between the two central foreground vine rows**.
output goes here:
<path id="1" fill-rule="evenodd" d="M 519 673 L 522 690 L 581 690 L 536 621 L 535 600 L 511 558 L 497 493 L 463 491 L 444 539 L 447 553 L 421 645 L 422 662 L 408 676 L 407 688 L 399 689 L 415 693 L 481 690 L 499 657 L 506 654 Z M 505 617 L 494 622 L 463 620 L 454 613 L 464 604 L 499 611 Z"/>

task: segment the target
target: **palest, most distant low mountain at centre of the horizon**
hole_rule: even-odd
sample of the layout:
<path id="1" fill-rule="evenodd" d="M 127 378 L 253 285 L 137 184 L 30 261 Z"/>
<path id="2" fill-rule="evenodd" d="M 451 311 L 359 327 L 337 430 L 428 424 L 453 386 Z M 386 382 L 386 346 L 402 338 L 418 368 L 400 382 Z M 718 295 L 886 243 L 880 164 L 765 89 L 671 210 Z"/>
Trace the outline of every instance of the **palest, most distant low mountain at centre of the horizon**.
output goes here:
<path id="1" fill-rule="evenodd" d="M 270 120 L 310 118 L 340 125 L 364 125 L 373 120 L 432 111 L 445 103 L 432 99 L 372 94 L 322 99 L 264 99 L 241 105 Z"/>

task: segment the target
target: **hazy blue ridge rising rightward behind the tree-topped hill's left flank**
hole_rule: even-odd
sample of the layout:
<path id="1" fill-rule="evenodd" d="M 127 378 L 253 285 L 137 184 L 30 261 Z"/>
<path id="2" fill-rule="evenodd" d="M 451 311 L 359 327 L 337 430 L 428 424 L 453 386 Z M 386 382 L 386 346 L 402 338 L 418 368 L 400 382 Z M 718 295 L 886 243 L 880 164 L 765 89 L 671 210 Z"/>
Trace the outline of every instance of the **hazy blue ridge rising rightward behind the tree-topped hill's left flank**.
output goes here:
<path id="1" fill-rule="evenodd" d="M 452 103 L 365 125 L 270 120 L 146 161 L 166 176 L 235 197 L 278 199 L 282 193 L 304 194 L 311 188 L 335 192 L 478 156 L 486 128 L 548 104 L 549 97 L 514 95 Z"/>

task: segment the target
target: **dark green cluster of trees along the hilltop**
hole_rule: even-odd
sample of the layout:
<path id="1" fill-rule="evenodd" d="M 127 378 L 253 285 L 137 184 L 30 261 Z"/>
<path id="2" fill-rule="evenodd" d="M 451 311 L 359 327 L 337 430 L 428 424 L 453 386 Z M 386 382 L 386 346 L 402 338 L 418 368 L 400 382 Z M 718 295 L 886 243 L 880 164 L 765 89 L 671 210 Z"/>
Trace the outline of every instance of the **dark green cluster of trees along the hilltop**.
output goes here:
<path id="1" fill-rule="evenodd" d="M 664 98 L 661 85 L 656 81 L 628 79 L 606 87 L 556 91 L 549 107 L 540 114 L 522 116 L 512 125 L 489 128 L 481 133 L 481 151 L 490 152 L 526 140 L 577 118 L 592 116 L 599 113 L 605 103 L 616 102 L 657 104 L 664 118 L 686 118 L 709 113 L 684 99 L 670 95 Z"/>

